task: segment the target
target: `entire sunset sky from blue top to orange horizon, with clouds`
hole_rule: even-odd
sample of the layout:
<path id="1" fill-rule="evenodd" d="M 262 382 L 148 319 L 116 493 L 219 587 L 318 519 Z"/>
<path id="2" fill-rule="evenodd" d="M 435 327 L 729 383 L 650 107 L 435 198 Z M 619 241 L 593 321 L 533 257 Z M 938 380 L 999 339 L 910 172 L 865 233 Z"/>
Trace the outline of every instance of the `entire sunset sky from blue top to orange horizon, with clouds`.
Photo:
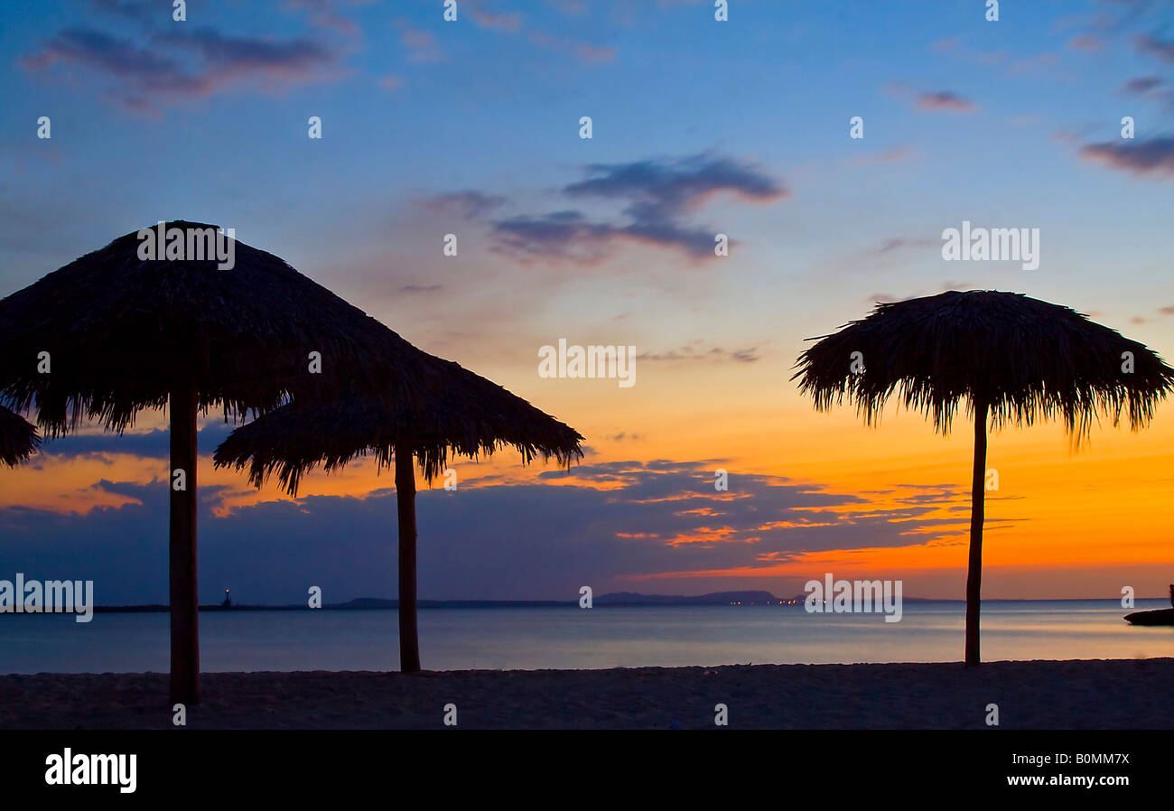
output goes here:
<path id="1" fill-rule="evenodd" d="M 1174 4 L 728 7 L 5 4 L 0 296 L 157 221 L 217 223 L 583 434 L 569 471 L 502 451 L 457 460 L 456 491 L 419 481 L 424 599 L 791 596 L 825 573 L 960 599 L 969 423 L 817 413 L 792 365 L 950 289 L 1174 358 Z M 1039 229 L 1039 266 L 944 259 L 964 221 Z M 635 385 L 540 377 L 559 339 L 634 346 Z M 391 475 L 257 491 L 212 469 L 231 427 L 201 433 L 201 600 L 394 596 Z M 1077 450 L 1057 424 L 994 433 L 984 596 L 1163 594 L 1172 462 L 1170 403 Z M 0 469 L 0 574 L 166 602 L 167 469 L 151 411 Z"/>

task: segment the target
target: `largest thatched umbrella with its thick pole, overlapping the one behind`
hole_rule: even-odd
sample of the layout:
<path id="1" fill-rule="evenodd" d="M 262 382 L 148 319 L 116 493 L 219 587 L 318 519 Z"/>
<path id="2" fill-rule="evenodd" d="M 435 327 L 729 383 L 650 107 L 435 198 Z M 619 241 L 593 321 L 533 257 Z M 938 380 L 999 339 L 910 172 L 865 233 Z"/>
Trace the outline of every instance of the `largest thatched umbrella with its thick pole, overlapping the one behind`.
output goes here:
<path id="1" fill-rule="evenodd" d="M 180 229 L 189 251 L 216 229 L 164 228 Z M 140 410 L 170 404 L 171 696 L 194 703 L 197 412 L 222 406 L 243 419 L 343 379 L 411 400 L 425 372 L 407 342 L 271 254 L 236 242 L 230 269 L 144 259 L 137 235 L 0 299 L 0 400 L 35 404 L 50 437 L 86 419 L 121 433 Z"/>

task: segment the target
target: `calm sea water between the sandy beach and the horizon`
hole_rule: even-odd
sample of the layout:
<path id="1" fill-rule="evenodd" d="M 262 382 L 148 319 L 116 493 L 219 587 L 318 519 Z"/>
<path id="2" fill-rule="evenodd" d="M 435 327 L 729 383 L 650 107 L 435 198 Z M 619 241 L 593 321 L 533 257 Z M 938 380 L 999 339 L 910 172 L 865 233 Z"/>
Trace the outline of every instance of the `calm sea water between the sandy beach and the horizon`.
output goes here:
<path id="1" fill-rule="evenodd" d="M 1134 609 L 1169 608 L 1140 600 Z M 991 602 L 983 658 L 1174 656 L 1174 627 L 1132 627 L 1115 600 Z M 431 670 L 634 668 L 745 663 L 957 662 L 960 602 L 879 614 L 797 606 L 421 609 Z M 391 670 L 394 610 L 217 611 L 200 616 L 201 669 Z M 167 614 L 0 615 L 0 673 L 168 670 Z"/>

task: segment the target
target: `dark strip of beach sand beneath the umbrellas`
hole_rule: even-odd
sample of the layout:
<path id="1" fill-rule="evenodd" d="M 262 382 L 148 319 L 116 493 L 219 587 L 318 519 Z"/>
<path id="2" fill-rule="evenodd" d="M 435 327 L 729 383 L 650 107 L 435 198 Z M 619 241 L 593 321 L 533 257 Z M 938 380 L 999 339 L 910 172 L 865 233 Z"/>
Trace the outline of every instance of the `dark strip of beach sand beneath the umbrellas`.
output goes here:
<path id="1" fill-rule="evenodd" d="M 613 670 L 211 673 L 195 729 L 1174 728 L 1174 658 Z M 166 674 L 0 676 L 0 728 L 166 729 Z"/>

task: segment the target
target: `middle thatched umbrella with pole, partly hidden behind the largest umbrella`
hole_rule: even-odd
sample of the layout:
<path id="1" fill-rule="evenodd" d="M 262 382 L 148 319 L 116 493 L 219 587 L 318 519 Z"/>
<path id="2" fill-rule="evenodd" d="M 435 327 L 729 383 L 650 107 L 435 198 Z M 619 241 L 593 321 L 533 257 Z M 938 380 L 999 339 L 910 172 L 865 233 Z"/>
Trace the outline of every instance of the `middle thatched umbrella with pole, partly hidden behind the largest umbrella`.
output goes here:
<path id="1" fill-rule="evenodd" d="M 426 357 L 439 384 L 423 407 L 362 396 L 335 403 L 295 400 L 234 431 L 215 455 L 217 467 L 249 467 L 249 480 L 257 487 L 276 472 L 291 495 L 297 494 L 302 474 L 316 465 L 331 471 L 370 453 L 382 469 L 394 460 L 399 667 L 405 673 L 420 669 L 412 457 L 427 481 L 445 469 L 450 453 L 477 458 L 513 446 L 522 462 L 541 455 L 562 465 L 582 457 L 582 437 L 569 426 L 452 361 Z"/>

